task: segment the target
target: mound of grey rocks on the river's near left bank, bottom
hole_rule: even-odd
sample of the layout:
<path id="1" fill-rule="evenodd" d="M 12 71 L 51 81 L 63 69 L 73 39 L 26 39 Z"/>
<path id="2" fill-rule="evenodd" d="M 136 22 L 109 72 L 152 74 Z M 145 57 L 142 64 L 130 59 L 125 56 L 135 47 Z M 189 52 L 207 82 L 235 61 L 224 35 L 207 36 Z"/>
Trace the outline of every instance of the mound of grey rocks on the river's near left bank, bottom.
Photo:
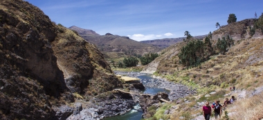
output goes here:
<path id="1" fill-rule="evenodd" d="M 107 92 L 91 99 L 91 104 L 85 106 L 78 114 L 71 114 L 67 119 L 102 119 L 113 117 L 131 110 L 136 103 L 131 94 L 126 92 Z"/>

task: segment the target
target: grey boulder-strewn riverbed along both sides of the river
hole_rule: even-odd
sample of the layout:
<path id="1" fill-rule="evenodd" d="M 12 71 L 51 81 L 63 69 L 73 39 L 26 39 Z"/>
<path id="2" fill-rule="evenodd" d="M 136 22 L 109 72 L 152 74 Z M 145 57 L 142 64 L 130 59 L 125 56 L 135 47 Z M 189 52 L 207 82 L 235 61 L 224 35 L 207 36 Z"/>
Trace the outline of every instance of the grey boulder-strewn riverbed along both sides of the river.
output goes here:
<path id="1" fill-rule="evenodd" d="M 141 79 L 145 88 L 165 88 L 170 90 L 167 95 L 161 95 L 162 99 L 167 101 L 174 101 L 176 99 L 185 97 L 189 94 L 195 94 L 195 90 L 167 81 L 166 79 L 158 77 L 150 77 L 150 74 L 140 72 L 120 72 L 115 71 L 115 74 L 120 74 L 127 77 L 140 78 L 141 76 L 147 76 L 147 79 Z M 132 89 L 131 89 L 132 88 Z M 143 90 L 136 89 L 136 86 L 129 85 L 130 92 L 143 93 Z M 163 93 L 165 94 L 165 93 Z M 57 108 L 56 117 L 58 119 L 103 119 L 105 117 L 113 117 L 119 114 L 125 114 L 129 110 L 133 109 L 136 103 L 140 103 L 145 114 L 146 108 L 152 106 L 153 103 L 158 103 L 159 94 L 155 94 L 150 97 L 149 95 L 129 94 L 118 90 L 112 92 L 105 92 L 99 94 L 96 97 L 90 98 L 88 101 L 80 99 L 78 103 L 72 106 L 62 106 Z"/>

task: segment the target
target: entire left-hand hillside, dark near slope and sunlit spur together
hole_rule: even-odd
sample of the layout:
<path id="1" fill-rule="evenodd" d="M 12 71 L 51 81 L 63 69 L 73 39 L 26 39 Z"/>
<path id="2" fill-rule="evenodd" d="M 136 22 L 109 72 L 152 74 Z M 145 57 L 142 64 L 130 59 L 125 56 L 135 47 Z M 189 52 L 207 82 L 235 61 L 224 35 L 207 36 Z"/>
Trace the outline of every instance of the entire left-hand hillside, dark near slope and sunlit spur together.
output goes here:
<path id="1" fill-rule="evenodd" d="M 80 94 L 122 87 L 95 46 L 22 0 L 0 1 L 0 66 L 1 119 L 66 119 Z"/>

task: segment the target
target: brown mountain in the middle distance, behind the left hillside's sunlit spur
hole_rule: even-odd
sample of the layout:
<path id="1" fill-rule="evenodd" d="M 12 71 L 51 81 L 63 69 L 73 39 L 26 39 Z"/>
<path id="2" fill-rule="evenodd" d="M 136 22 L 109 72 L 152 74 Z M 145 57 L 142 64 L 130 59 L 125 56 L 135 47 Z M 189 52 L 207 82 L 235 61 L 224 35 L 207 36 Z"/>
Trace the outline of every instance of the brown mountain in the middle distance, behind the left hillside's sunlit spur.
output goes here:
<path id="1" fill-rule="evenodd" d="M 105 54 L 105 59 L 120 59 L 127 55 L 145 54 L 147 52 L 159 52 L 162 48 L 148 43 L 140 43 L 129 39 L 129 37 L 120 37 L 107 33 L 105 35 L 90 35 L 81 34 L 78 29 L 71 28 L 77 31 L 80 36 L 97 46 L 97 48 Z"/>

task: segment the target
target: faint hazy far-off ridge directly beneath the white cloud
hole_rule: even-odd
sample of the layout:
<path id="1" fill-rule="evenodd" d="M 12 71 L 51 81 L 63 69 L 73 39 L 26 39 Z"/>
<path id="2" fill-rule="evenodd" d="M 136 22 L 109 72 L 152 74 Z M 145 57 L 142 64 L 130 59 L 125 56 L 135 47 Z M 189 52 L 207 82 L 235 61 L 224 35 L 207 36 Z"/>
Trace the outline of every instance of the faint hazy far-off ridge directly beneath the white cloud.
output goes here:
<path id="1" fill-rule="evenodd" d="M 203 39 L 207 35 L 200 35 L 193 37 L 194 39 Z M 167 48 L 169 46 L 172 46 L 175 43 L 178 43 L 180 41 L 183 41 L 183 39 L 186 39 L 186 37 L 179 37 L 179 38 L 167 38 L 167 39 L 154 39 L 154 40 L 147 40 L 147 41 L 140 41 L 141 43 L 149 43 L 161 48 Z"/>

